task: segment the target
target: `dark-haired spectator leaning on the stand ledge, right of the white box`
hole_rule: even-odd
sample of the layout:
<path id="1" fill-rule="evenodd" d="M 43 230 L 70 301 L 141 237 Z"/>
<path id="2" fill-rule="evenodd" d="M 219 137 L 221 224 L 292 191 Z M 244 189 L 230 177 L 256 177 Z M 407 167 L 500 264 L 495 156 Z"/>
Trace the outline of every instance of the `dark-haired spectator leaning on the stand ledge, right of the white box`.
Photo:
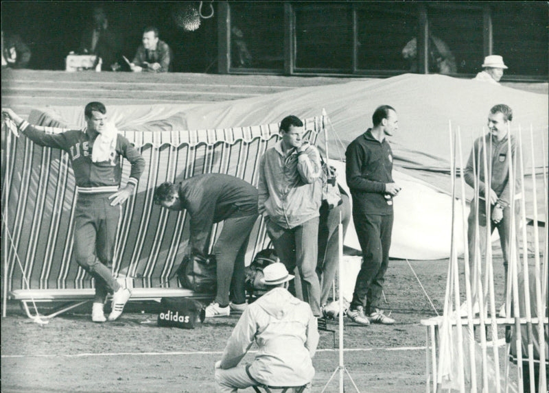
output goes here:
<path id="1" fill-rule="evenodd" d="M 145 27 L 143 30 L 143 45 L 137 48 L 137 53 L 130 63 L 133 72 L 168 72 L 172 50 L 163 40 L 159 39 L 156 27 Z"/>

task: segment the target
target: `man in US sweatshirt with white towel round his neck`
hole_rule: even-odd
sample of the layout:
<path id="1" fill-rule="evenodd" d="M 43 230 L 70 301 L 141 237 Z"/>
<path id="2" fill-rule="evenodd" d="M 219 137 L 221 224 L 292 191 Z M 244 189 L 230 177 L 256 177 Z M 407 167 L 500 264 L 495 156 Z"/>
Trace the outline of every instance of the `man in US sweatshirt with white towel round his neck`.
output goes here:
<path id="1" fill-rule="evenodd" d="M 108 125 L 106 108 L 100 102 L 86 105 L 84 119 L 87 127 L 84 130 L 60 134 L 49 134 L 43 127 L 32 126 L 11 109 L 2 109 L 2 112 L 37 145 L 69 153 L 78 193 L 74 216 L 75 259 L 95 279 L 91 318 L 93 322 L 106 321 L 103 306 L 110 293 L 113 294 L 113 307 L 108 320 L 116 320 L 131 293 L 119 285 L 108 265 L 113 263 L 121 204 L 137 187 L 145 169 L 145 160 L 128 139 Z M 132 165 L 124 188 L 120 188 L 121 157 Z"/>

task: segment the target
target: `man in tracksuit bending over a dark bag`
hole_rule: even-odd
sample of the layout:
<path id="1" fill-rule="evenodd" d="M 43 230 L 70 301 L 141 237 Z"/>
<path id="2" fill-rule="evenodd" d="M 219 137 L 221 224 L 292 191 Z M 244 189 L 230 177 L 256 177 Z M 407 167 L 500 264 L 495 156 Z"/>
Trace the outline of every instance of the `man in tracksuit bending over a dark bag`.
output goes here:
<path id="1" fill-rule="evenodd" d="M 206 307 L 206 317 L 229 316 L 246 309 L 244 257 L 248 237 L 257 220 L 257 189 L 226 174 L 202 174 L 179 184 L 165 182 L 156 188 L 154 202 L 166 209 L 186 209 L 191 216 L 191 253 L 207 254 L 211 226 L 223 222 L 213 246 L 217 262 L 217 295 Z M 229 302 L 229 292 L 232 302 Z"/>

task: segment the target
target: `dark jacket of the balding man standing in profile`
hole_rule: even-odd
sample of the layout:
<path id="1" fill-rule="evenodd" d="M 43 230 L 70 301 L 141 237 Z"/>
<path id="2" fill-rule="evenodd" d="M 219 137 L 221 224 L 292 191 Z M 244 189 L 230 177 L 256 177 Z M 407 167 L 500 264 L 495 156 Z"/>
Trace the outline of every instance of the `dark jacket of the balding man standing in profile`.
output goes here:
<path id="1" fill-rule="evenodd" d="M 385 184 L 393 182 L 393 152 L 387 140 L 377 141 L 369 128 L 349 144 L 345 156 L 353 210 L 376 215 L 393 214 L 393 198 L 385 192 Z"/>

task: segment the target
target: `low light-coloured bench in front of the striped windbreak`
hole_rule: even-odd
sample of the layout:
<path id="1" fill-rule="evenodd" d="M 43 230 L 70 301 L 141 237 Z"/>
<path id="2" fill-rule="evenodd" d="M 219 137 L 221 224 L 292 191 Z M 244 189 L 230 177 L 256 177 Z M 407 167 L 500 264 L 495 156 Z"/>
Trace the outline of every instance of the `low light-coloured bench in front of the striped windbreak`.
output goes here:
<path id="1" fill-rule="evenodd" d="M 195 294 L 190 289 L 183 288 L 130 288 L 132 301 L 154 301 L 160 302 L 161 298 L 194 298 L 196 300 L 211 300 L 213 295 Z M 40 303 L 61 302 L 48 315 L 40 315 L 40 318 L 54 318 L 57 315 L 65 313 L 75 307 L 91 302 L 95 296 L 95 289 L 15 289 L 10 292 L 10 299 L 18 300 L 21 308 L 27 314 L 27 317 L 34 318 L 29 305 L 34 302 Z"/>

